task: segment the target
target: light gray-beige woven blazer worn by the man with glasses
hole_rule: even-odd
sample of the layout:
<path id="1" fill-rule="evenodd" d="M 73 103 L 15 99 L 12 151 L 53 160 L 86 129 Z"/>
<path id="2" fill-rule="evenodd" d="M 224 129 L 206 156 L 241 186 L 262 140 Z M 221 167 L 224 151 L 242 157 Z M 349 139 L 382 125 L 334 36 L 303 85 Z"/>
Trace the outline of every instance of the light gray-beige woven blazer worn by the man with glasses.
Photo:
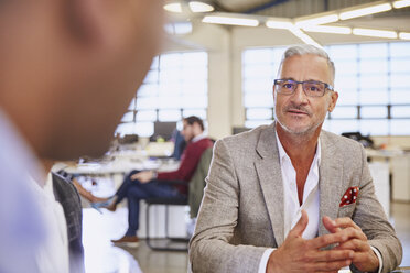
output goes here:
<path id="1" fill-rule="evenodd" d="M 322 131 L 320 219 L 350 217 L 378 249 L 382 272 L 401 261 L 402 249 L 375 196 L 362 144 Z M 190 261 L 194 272 L 257 272 L 267 248 L 283 243 L 283 185 L 274 124 L 225 138 L 214 148 Z M 349 188 L 357 201 L 339 207 Z M 319 234 L 328 233 L 321 221 Z"/>

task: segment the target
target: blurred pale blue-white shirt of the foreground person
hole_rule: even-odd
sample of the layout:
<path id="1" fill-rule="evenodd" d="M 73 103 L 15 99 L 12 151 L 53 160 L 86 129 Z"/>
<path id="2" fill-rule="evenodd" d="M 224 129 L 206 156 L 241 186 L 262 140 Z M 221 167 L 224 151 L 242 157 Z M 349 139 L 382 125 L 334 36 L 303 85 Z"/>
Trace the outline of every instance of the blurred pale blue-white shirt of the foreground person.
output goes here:
<path id="1" fill-rule="evenodd" d="M 0 272 L 68 272 L 65 218 L 45 177 L 0 108 Z"/>

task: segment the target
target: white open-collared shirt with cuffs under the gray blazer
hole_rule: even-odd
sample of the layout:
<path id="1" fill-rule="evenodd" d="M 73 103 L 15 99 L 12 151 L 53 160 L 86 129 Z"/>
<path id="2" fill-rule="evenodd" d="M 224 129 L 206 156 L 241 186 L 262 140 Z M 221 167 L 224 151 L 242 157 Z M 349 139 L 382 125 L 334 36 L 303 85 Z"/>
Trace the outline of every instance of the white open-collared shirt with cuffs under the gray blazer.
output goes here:
<path id="1" fill-rule="evenodd" d="M 306 229 L 303 231 L 304 239 L 313 239 L 317 236 L 320 226 L 320 188 L 319 188 L 319 167 L 321 165 L 321 142 L 317 141 L 316 153 L 312 161 L 311 168 L 306 177 L 303 190 L 303 201 L 300 206 L 296 186 L 296 171 L 292 162 L 284 151 L 282 143 L 276 132 L 279 161 L 282 172 L 283 182 L 283 200 L 284 200 L 284 238 L 288 237 L 289 231 L 298 223 L 301 218 L 301 211 L 304 209 L 308 212 L 309 222 Z M 379 273 L 382 269 L 382 260 L 379 251 L 370 247 L 379 259 Z M 260 260 L 258 273 L 265 273 L 268 265 L 270 254 L 276 249 L 267 249 Z M 348 267 L 347 267 L 348 269 Z"/>

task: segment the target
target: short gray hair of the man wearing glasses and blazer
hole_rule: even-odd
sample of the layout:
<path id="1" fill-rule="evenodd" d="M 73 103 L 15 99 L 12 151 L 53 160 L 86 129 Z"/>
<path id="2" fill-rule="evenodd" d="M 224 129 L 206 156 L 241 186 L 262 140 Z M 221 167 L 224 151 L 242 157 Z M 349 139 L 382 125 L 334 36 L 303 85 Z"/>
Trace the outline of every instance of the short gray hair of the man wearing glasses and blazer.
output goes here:
<path id="1" fill-rule="evenodd" d="M 302 55 L 316 55 L 316 56 L 320 56 L 320 57 L 323 57 L 324 59 L 326 59 L 327 65 L 328 65 L 328 67 L 331 69 L 331 73 L 332 73 L 332 81 L 335 80 L 335 73 L 336 73 L 335 64 L 332 62 L 332 59 L 328 57 L 327 53 L 324 50 L 319 48 L 314 45 L 310 45 L 310 44 L 300 44 L 300 45 L 293 45 L 293 46 L 289 47 L 284 52 L 282 61 L 280 62 L 278 74 L 281 73 L 283 62 L 287 58 L 292 57 L 292 56 L 302 56 Z M 333 83 L 332 83 L 332 85 L 333 85 Z"/>

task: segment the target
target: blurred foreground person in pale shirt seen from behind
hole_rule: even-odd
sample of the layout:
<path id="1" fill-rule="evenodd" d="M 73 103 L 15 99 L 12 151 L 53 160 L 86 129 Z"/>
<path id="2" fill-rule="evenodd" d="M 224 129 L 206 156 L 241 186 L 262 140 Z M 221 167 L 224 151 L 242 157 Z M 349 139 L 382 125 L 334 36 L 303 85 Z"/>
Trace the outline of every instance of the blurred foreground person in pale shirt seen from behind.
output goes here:
<path id="1" fill-rule="evenodd" d="M 155 54 L 161 10 L 0 1 L 0 272 L 69 271 L 64 212 L 37 159 L 106 151 Z"/>

